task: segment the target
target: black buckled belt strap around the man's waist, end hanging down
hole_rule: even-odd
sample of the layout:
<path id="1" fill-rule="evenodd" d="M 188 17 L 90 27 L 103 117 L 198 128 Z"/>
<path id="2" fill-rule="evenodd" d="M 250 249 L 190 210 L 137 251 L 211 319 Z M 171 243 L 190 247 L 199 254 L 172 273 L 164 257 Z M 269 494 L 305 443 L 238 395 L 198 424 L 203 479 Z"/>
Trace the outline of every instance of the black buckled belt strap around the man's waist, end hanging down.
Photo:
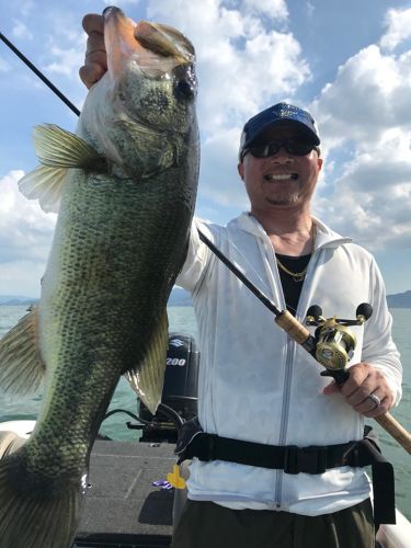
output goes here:
<path id="1" fill-rule="evenodd" d="M 179 444 L 178 444 L 179 446 Z M 197 457 L 199 460 L 227 460 L 239 465 L 281 469 L 286 473 L 323 473 L 340 466 L 372 466 L 374 517 L 376 524 L 396 523 L 393 468 L 368 438 L 338 445 L 298 447 L 265 445 L 231 439 L 197 432 L 189 445 L 176 452 L 179 463 Z"/>

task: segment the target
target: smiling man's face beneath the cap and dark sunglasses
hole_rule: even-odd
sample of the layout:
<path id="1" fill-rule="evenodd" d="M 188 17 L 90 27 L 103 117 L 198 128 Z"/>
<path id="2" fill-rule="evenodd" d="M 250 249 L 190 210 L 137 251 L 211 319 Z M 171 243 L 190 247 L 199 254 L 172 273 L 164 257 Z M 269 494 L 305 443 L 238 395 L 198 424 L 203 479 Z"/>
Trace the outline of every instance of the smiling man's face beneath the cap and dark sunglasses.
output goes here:
<path id="1" fill-rule="evenodd" d="M 272 140 L 304 138 L 294 126 L 281 126 L 269 130 L 259 145 Z M 322 159 L 316 150 L 296 156 L 284 148 L 269 158 L 255 158 L 248 152 L 238 170 L 244 181 L 252 213 L 301 208 L 308 206 L 316 189 Z"/>

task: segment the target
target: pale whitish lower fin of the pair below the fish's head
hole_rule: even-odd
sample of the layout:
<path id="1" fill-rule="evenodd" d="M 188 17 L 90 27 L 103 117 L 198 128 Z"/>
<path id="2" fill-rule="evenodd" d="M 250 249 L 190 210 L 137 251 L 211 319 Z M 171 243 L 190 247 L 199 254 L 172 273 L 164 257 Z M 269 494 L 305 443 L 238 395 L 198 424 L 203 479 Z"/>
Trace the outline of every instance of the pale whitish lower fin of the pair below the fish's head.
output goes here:
<path id="1" fill-rule="evenodd" d="M 38 199 L 46 213 L 58 213 L 67 168 L 39 165 L 19 181 L 20 192 L 28 199 Z"/>

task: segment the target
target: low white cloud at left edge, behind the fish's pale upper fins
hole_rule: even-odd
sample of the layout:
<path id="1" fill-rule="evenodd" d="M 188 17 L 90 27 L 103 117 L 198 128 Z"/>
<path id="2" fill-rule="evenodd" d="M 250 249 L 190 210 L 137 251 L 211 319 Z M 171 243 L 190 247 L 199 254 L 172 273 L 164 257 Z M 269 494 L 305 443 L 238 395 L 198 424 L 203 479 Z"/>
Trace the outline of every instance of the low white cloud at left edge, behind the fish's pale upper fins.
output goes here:
<path id="1" fill-rule="evenodd" d="M 15 170 L 0 178 L 1 294 L 27 295 L 25 287 L 19 286 L 27 272 L 32 275 L 31 289 L 39 288 L 39 277 L 35 276 L 44 273 L 56 221 L 55 215 L 46 215 L 36 202 L 20 194 L 18 181 L 23 175 Z"/>

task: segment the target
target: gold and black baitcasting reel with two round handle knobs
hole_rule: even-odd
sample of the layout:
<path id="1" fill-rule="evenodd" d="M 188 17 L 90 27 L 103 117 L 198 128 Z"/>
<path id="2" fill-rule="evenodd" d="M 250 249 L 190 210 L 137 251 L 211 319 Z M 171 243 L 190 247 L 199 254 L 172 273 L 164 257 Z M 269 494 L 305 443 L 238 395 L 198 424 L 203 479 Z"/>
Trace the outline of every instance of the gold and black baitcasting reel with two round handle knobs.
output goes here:
<path id="1" fill-rule="evenodd" d="M 356 309 L 355 320 L 323 318 L 321 307 L 312 305 L 307 310 L 306 324 L 316 329 L 316 359 L 327 369 L 344 369 L 356 345 L 354 333 L 349 326 L 362 326 L 373 315 L 373 307 L 363 302 Z"/>

